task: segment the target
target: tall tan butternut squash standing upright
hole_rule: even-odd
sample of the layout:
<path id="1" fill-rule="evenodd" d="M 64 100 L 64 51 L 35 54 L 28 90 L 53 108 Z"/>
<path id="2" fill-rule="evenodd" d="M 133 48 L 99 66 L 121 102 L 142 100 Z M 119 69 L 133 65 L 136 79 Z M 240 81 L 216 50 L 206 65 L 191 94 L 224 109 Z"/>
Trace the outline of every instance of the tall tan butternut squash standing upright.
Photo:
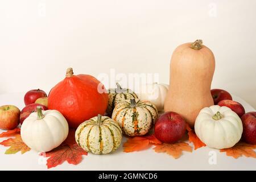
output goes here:
<path id="1" fill-rule="evenodd" d="M 179 113 L 193 127 L 200 110 L 214 105 L 210 93 L 214 70 L 214 55 L 202 40 L 177 47 L 171 58 L 164 111 Z"/>

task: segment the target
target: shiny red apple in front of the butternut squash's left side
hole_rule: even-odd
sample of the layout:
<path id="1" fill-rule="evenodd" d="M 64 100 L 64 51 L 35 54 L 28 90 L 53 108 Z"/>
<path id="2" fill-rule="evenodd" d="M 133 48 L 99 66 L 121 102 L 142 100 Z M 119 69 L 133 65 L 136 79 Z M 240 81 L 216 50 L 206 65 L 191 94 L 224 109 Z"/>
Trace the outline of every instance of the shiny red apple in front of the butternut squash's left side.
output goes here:
<path id="1" fill-rule="evenodd" d="M 155 123 L 155 137 L 164 143 L 175 143 L 183 137 L 186 122 L 175 112 L 162 114 Z"/>

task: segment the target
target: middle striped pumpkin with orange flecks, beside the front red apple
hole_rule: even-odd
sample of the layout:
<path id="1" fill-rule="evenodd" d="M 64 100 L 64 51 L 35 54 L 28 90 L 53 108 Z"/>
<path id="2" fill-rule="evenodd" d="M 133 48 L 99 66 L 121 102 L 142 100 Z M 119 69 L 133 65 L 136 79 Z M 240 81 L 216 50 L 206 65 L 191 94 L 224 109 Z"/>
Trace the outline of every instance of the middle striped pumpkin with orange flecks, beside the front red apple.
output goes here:
<path id="1" fill-rule="evenodd" d="M 157 117 L 158 110 L 155 105 L 138 99 L 119 102 L 112 114 L 112 119 L 130 137 L 147 134 Z"/>

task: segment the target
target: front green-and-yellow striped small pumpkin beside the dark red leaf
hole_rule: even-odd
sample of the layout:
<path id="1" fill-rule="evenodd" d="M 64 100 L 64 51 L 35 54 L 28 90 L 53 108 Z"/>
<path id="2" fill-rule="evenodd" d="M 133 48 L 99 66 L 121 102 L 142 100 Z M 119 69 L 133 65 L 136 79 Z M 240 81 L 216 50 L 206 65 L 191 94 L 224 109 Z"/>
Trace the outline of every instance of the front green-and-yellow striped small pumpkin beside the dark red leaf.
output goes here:
<path id="1" fill-rule="evenodd" d="M 79 125 L 76 130 L 76 143 L 93 154 L 108 154 L 117 150 L 122 141 L 122 130 L 113 119 L 94 117 Z"/>

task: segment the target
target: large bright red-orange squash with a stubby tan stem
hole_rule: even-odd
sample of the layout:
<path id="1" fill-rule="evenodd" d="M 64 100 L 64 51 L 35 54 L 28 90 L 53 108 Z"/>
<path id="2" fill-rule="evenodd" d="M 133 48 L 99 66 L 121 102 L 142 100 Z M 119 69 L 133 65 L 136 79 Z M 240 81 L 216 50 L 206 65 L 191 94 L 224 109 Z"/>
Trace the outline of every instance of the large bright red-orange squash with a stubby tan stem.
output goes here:
<path id="1" fill-rule="evenodd" d="M 67 69 L 64 80 L 54 86 L 48 96 L 48 109 L 60 111 L 73 128 L 98 114 L 105 114 L 107 107 L 104 85 L 90 75 L 73 75 L 72 68 Z"/>

